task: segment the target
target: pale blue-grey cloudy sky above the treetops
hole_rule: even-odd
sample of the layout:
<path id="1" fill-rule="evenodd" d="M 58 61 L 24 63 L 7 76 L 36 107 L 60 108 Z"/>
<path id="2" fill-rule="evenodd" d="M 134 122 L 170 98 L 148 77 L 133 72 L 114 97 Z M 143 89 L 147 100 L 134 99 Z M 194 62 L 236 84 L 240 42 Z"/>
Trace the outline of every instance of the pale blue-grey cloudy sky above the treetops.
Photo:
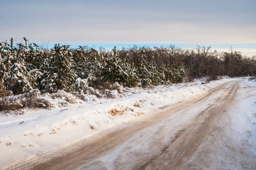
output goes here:
<path id="1" fill-rule="evenodd" d="M 255 0 L 0 0 L 0 40 L 211 46 L 256 55 Z"/>

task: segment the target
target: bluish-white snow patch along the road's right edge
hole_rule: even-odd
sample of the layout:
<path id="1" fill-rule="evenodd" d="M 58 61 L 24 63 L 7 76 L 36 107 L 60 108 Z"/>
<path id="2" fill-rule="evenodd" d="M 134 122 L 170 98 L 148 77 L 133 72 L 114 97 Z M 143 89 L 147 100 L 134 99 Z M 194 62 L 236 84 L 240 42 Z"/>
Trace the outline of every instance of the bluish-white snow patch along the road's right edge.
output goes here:
<path id="1" fill-rule="evenodd" d="M 256 80 L 240 84 L 238 105 L 233 108 L 232 128 L 236 141 L 256 155 Z"/>

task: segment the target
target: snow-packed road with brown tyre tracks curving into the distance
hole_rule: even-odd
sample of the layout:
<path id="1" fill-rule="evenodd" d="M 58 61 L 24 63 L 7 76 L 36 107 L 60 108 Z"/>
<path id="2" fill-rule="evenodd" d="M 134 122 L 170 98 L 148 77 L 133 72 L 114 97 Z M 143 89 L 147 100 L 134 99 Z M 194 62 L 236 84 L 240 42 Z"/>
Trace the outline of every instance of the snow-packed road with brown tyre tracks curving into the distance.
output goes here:
<path id="1" fill-rule="evenodd" d="M 233 128 L 240 123 L 234 122 L 239 119 L 235 106 L 249 97 L 240 82 L 228 81 L 191 101 L 39 154 L 16 168 L 255 169 L 255 142 L 249 139 L 255 137 L 255 126 L 241 139 L 243 130 Z M 254 96 L 256 91 L 246 94 Z"/>

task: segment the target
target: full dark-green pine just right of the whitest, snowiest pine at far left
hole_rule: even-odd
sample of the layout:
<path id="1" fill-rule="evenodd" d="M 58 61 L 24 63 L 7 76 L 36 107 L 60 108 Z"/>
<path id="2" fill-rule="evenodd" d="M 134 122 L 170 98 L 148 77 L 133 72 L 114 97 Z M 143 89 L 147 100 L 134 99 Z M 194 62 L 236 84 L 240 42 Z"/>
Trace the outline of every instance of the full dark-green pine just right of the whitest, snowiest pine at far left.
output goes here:
<path id="1" fill-rule="evenodd" d="M 56 44 L 52 55 L 45 59 L 43 79 L 40 82 L 43 92 L 56 92 L 59 89 L 70 91 L 77 75 L 72 69 L 72 52 L 68 45 Z"/>

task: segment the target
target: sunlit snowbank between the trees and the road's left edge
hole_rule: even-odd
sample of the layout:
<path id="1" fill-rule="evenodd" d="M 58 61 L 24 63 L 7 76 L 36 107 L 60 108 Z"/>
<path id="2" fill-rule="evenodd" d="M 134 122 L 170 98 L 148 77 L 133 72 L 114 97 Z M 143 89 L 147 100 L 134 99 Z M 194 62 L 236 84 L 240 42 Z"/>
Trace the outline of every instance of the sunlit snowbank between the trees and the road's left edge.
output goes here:
<path id="1" fill-rule="evenodd" d="M 124 89 L 121 94 L 112 91 L 114 99 L 89 95 L 87 102 L 66 107 L 28 110 L 24 115 L 0 115 L 0 167 L 186 101 L 231 80 Z M 57 100 L 53 100 L 56 106 L 61 103 Z"/>

